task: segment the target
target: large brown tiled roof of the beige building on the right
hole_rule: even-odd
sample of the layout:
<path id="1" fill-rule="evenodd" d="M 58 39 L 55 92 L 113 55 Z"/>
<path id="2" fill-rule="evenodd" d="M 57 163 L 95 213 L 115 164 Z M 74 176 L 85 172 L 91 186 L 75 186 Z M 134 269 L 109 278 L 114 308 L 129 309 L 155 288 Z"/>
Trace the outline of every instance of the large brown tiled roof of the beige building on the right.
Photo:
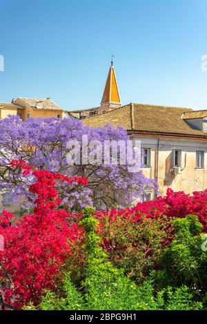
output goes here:
<path id="1" fill-rule="evenodd" d="M 207 133 L 193 128 L 183 120 L 182 115 L 190 111 L 190 108 L 128 104 L 101 115 L 88 117 L 83 120 L 83 124 L 93 127 L 112 124 L 123 126 L 127 131 L 141 133 L 207 137 Z"/>

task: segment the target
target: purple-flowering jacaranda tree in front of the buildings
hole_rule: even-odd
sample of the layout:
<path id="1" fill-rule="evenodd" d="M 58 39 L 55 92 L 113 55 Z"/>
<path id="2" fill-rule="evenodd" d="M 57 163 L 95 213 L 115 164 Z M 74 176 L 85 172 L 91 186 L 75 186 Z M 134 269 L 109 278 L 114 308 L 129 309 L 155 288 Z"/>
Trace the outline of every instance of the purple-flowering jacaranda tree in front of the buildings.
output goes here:
<path id="1" fill-rule="evenodd" d="M 12 159 L 29 162 L 34 170 L 47 169 L 68 176 L 86 176 L 88 187 L 66 183 L 59 184 L 61 204 L 66 210 L 79 211 L 86 205 L 94 205 L 99 209 L 108 209 L 113 205 L 127 205 L 141 196 L 144 188 L 155 189 L 153 180 L 147 180 L 142 171 L 131 172 L 128 164 L 96 164 L 80 161 L 80 164 L 68 164 L 67 156 L 71 152 L 67 144 L 71 140 L 81 144 L 82 136 L 87 135 L 90 141 L 122 141 L 128 140 L 124 128 L 105 126 L 92 128 L 83 126 L 75 118 L 63 120 L 33 119 L 22 122 L 18 116 L 10 116 L 0 121 L 0 186 L 1 192 L 9 191 L 12 199 L 24 198 L 26 207 L 32 206 L 34 195 L 28 186 L 34 177 L 22 177 L 10 164 Z M 90 153 L 93 149 L 90 148 Z M 117 154 L 119 155 L 119 151 Z M 95 155 L 95 153 L 94 153 Z M 110 156 L 110 158 L 112 158 Z"/>

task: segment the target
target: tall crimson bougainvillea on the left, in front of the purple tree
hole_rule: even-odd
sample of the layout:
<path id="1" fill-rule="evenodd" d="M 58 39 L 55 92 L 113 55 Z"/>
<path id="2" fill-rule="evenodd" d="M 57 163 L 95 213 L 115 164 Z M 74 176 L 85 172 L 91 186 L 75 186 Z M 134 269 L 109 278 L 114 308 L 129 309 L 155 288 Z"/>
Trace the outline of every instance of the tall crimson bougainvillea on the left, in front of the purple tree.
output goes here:
<path id="1" fill-rule="evenodd" d="M 57 208 L 60 199 L 55 189 L 56 180 L 84 185 L 88 180 L 68 178 L 47 170 L 32 171 L 32 166 L 23 160 L 12 160 L 10 165 L 22 171 L 22 175 L 32 172 L 37 181 L 30 186 L 30 191 L 37 199 L 33 213 L 17 221 L 16 226 L 10 226 L 14 220 L 12 213 L 3 211 L 0 216 L 0 234 L 4 240 L 0 276 L 10 280 L 10 289 L 6 289 L 4 298 L 16 307 L 28 301 L 37 305 L 43 289 L 52 289 L 61 280 L 66 258 L 70 258 L 72 247 L 83 235 L 75 222 L 68 223 L 71 214 Z"/>

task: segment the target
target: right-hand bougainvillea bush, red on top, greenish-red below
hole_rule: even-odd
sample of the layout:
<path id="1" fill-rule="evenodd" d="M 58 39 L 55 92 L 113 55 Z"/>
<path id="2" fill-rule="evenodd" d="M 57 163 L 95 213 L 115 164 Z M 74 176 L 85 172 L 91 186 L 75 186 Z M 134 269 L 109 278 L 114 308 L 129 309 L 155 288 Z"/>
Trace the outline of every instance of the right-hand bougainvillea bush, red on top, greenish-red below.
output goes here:
<path id="1" fill-rule="evenodd" d="M 200 233 L 207 231 L 207 190 L 202 193 L 194 192 L 193 196 L 190 196 L 182 191 L 174 193 L 172 189 L 168 189 L 166 197 L 139 202 L 132 208 L 99 211 L 96 217 L 100 222 L 99 234 L 103 238 L 103 248 L 107 251 L 109 259 L 116 267 L 124 269 L 124 273 L 132 280 L 141 283 L 150 271 L 164 267 L 161 265 L 163 251 L 170 246 L 175 233 L 174 224 L 177 224 L 173 220 L 188 219 L 189 214 L 197 216 Z M 199 255 L 199 243 L 197 250 L 195 254 Z M 175 265 L 182 264 L 182 260 L 184 259 L 181 257 L 180 263 L 179 260 L 175 261 Z M 193 264 L 190 267 L 193 269 Z M 190 269 L 188 270 L 190 272 Z M 191 277 L 195 272 L 192 270 Z M 176 285 L 171 271 L 159 274 L 163 281 L 167 280 L 170 285 Z M 179 282 L 189 284 L 189 280 Z"/>

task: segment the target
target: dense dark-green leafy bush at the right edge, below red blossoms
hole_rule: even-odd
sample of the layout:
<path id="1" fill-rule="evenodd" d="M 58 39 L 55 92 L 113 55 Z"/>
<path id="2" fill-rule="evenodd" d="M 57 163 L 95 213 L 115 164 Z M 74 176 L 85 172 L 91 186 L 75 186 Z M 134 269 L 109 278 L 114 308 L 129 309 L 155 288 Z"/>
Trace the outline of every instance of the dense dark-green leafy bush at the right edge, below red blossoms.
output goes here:
<path id="1" fill-rule="evenodd" d="M 188 285 L 202 294 L 207 285 L 207 252 L 202 251 L 202 225 L 197 216 L 173 220 L 175 236 L 161 258 L 159 285 Z"/>

